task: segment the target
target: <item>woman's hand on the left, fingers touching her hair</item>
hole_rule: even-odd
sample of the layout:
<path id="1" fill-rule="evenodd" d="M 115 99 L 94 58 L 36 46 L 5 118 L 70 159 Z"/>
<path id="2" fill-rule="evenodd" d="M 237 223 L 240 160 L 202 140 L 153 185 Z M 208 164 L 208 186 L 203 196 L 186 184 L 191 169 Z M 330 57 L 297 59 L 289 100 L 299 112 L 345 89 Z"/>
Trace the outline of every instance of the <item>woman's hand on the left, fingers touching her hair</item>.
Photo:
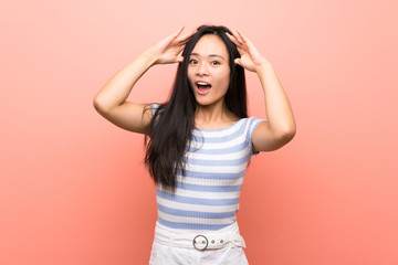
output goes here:
<path id="1" fill-rule="evenodd" d="M 196 32 L 181 36 L 182 30 L 184 26 L 149 49 L 153 56 L 155 56 L 155 64 L 171 64 L 184 61 L 180 53 L 184 50 L 185 44 Z"/>

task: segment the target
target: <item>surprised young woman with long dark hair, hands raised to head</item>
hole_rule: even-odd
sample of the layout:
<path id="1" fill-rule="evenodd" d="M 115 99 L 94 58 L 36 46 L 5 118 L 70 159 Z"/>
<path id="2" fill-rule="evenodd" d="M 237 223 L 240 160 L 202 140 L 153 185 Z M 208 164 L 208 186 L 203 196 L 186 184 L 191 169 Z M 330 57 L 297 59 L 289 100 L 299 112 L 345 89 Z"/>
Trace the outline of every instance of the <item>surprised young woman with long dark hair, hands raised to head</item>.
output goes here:
<path id="1" fill-rule="evenodd" d="M 293 138 L 293 113 L 270 62 L 241 32 L 182 30 L 116 73 L 94 106 L 113 124 L 146 135 L 158 205 L 149 264 L 248 264 L 235 221 L 244 171 L 252 155 Z M 170 63 L 179 65 L 168 102 L 126 100 L 148 68 Z M 260 78 L 268 120 L 248 118 L 244 70 Z"/>

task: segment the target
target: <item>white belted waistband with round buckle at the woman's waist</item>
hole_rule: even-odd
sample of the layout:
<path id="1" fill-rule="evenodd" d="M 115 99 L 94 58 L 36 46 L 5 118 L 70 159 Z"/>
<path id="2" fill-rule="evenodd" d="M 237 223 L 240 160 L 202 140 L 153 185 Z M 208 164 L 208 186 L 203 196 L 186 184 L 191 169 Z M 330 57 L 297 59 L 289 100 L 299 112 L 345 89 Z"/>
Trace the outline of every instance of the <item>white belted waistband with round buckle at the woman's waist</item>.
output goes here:
<path id="1" fill-rule="evenodd" d="M 176 247 L 196 248 L 198 251 L 217 250 L 227 246 L 240 246 L 245 248 L 243 237 L 239 233 L 238 223 L 206 233 L 178 233 L 159 222 L 155 226 L 155 242 Z"/>

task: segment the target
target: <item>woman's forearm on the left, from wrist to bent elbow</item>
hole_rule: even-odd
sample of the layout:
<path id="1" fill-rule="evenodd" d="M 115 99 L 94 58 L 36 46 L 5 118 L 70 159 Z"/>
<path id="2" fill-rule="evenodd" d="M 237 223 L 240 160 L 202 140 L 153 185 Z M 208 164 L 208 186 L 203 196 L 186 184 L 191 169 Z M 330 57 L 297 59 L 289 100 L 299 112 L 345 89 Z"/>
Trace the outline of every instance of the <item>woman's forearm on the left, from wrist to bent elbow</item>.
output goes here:
<path id="1" fill-rule="evenodd" d="M 147 50 L 118 71 L 95 96 L 95 107 L 106 112 L 125 103 L 136 82 L 155 64 L 155 61 L 156 57 L 150 50 Z"/>

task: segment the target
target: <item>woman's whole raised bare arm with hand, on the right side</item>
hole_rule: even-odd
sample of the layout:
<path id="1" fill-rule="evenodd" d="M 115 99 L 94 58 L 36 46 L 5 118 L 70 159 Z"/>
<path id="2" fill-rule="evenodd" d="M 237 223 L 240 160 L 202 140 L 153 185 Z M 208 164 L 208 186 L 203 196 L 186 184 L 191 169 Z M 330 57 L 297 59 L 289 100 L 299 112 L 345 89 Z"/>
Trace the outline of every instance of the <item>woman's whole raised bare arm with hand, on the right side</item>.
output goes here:
<path id="1" fill-rule="evenodd" d="M 239 31 L 229 35 L 241 55 L 235 59 L 248 71 L 258 74 L 265 100 L 266 123 L 261 123 L 253 131 L 253 151 L 272 151 L 286 145 L 295 135 L 296 126 L 286 93 L 271 65 L 254 45 Z"/>

